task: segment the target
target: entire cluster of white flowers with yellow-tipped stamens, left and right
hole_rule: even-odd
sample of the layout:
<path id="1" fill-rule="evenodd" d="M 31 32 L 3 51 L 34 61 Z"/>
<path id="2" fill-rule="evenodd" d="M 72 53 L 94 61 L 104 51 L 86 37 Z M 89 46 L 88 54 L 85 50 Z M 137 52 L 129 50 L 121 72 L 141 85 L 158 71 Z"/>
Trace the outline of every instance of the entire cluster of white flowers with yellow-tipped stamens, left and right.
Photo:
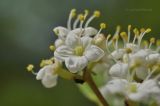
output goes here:
<path id="1" fill-rule="evenodd" d="M 105 81 L 98 87 L 106 100 L 121 97 L 127 102 L 148 104 L 155 101 L 160 105 L 160 40 L 143 40 L 151 29 L 134 28 L 132 32 L 131 25 L 128 25 L 127 32 L 120 32 L 120 26 L 117 26 L 113 36 L 105 36 L 101 33 L 106 28 L 105 23 L 100 24 L 99 30 L 89 26 L 100 16 L 100 12 L 94 11 L 92 16 L 88 15 L 88 10 L 77 15 L 76 10 L 72 9 L 67 27 L 53 29 L 58 36 L 54 45 L 49 46 L 54 56 L 42 60 L 39 72 L 33 70 L 32 64 L 28 65 L 27 70 L 36 75 L 36 79 L 41 80 L 46 88 L 54 87 L 58 77 L 83 83 L 91 80 L 86 73 L 93 76 L 103 73 L 101 77 Z M 100 71 L 100 68 L 95 68 L 97 66 L 104 68 Z"/>

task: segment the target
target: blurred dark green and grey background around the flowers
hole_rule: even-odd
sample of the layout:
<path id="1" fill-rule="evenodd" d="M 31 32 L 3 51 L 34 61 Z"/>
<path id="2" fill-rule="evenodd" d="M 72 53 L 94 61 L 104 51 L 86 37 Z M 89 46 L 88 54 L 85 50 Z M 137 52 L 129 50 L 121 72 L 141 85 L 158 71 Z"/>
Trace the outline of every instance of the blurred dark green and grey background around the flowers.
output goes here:
<path id="1" fill-rule="evenodd" d="M 26 72 L 26 65 L 39 66 L 41 59 L 53 55 L 48 50 L 55 39 L 52 29 L 66 26 L 72 8 L 100 10 L 102 16 L 92 25 L 98 28 L 106 22 L 107 33 L 113 33 L 116 25 L 126 30 L 132 24 L 151 27 L 150 36 L 158 38 L 159 4 L 159 0 L 0 0 L 0 106 L 95 106 L 74 82 L 59 79 L 55 88 L 44 88 Z"/>

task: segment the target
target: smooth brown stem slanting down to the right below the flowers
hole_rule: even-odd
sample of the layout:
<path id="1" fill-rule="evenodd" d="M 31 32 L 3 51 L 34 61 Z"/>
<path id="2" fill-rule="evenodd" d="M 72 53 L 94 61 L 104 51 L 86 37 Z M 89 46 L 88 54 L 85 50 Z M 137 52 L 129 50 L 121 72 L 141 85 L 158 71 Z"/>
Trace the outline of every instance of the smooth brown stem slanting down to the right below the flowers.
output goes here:
<path id="1" fill-rule="evenodd" d="M 101 92 L 99 91 L 98 87 L 96 86 L 95 82 L 92 79 L 92 76 L 89 71 L 85 70 L 84 76 L 83 76 L 84 81 L 88 83 L 88 85 L 91 87 L 93 92 L 96 94 L 97 98 L 99 101 L 103 104 L 103 106 L 108 106 L 107 101 L 104 99 L 102 96 Z"/>

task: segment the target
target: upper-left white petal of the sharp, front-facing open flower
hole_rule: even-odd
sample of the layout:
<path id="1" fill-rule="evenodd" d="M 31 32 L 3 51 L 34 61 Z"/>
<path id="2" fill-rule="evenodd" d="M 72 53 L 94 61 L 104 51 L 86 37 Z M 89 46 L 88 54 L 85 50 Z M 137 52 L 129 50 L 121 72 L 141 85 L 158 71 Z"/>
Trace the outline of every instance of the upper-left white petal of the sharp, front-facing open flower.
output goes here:
<path id="1" fill-rule="evenodd" d="M 80 43 L 80 37 L 76 35 L 75 33 L 70 32 L 67 35 L 65 44 L 71 48 L 74 48 L 75 46 L 79 45 Z"/>

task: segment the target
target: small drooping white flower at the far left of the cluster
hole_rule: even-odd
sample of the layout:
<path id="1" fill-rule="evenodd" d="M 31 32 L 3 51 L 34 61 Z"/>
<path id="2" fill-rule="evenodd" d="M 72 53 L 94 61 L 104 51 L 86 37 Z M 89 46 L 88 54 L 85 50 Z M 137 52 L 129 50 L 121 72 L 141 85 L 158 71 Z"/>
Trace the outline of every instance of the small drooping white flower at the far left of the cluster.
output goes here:
<path id="1" fill-rule="evenodd" d="M 52 88 L 57 84 L 58 75 L 54 72 L 55 64 L 44 66 L 37 73 L 36 79 L 41 80 L 46 88 Z"/>

